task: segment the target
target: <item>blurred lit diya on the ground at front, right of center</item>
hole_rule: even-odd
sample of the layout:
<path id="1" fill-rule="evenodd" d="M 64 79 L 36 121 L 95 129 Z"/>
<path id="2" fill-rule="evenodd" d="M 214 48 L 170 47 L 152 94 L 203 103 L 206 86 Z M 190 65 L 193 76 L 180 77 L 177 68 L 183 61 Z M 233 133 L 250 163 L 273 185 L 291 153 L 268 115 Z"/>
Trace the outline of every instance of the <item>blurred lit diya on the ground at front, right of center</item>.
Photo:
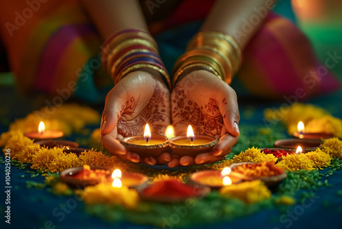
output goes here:
<path id="1" fill-rule="evenodd" d="M 211 189 L 220 189 L 222 186 L 237 184 L 244 180 L 240 173 L 231 171 L 230 167 L 220 170 L 205 170 L 193 173 L 190 180 L 196 184 L 210 186 Z"/>

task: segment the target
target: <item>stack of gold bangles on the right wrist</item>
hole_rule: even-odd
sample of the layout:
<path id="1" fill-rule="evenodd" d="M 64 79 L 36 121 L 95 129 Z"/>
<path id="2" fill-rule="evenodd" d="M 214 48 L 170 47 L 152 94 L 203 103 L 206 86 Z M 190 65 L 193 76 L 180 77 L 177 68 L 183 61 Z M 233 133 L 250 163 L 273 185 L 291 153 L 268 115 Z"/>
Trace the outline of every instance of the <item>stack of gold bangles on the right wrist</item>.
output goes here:
<path id="1" fill-rule="evenodd" d="M 186 52 L 176 60 L 172 85 L 194 68 L 210 71 L 231 84 L 241 62 L 241 49 L 231 36 L 221 32 L 199 32 L 189 41 Z"/>

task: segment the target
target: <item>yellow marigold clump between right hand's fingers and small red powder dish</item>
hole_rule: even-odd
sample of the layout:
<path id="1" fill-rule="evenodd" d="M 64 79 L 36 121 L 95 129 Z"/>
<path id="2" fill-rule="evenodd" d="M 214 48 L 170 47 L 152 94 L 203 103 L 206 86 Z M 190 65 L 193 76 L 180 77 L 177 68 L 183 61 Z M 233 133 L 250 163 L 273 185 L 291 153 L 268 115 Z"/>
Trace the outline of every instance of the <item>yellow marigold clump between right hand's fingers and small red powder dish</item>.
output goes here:
<path id="1" fill-rule="evenodd" d="M 235 155 L 230 162 L 263 162 L 263 161 L 274 161 L 276 162 L 277 158 L 273 154 L 263 154 L 260 149 L 257 148 L 249 148 L 246 149 L 245 152 L 241 152 L 238 155 Z"/>

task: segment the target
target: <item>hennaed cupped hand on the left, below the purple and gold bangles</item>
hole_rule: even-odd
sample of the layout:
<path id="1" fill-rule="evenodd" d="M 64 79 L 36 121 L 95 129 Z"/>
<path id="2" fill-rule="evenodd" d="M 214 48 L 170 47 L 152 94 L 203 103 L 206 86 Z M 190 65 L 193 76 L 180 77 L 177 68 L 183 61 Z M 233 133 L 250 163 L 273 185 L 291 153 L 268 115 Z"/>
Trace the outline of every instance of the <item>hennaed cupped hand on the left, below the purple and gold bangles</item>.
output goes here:
<path id="1" fill-rule="evenodd" d="M 120 140 L 142 135 L 148 123 L 152 134 L 165 133 L 170 125 L 170 91 L 158 75 L 135 71 L 124 77 L 109 91 L 101 121 L 101 143 L 111 154 L 124 160 L 149 165 L 166 164 L 170 154 L 157 158 L 129 152 Z"/>

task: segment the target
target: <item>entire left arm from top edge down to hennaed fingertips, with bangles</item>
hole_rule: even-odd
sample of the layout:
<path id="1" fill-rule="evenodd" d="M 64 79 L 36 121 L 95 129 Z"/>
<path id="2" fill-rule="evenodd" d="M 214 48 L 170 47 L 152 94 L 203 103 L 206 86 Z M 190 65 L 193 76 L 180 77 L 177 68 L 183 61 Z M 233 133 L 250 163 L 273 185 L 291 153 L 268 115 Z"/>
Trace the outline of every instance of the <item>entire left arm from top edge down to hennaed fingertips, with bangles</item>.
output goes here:
<path id="1" fill-rule="evenodd" d="M 142 134 L 145 123 L 152 126 L 152 129 L 155 130 L 154 134 L 163 133 L 166 126 L 170 124 L 170 107 L 161 104 L 163 101 L 170 101 L 170 92 L 167 86 L 163 84 L 161 75 L 157 70 L 142 67 L 141 65 L 148 58 L 146 52 L 140 53 L 140 51 L 148 50 L 150 56 L 156 59 L 157 47 L 153 46 L 153 49 L 146 48 L 146 45 L 152 43 L 154 45 L 155 42 L 150 35 L 147 35 L 148 27 L 139 1 L 83 0 L 83 3 L 103 38 L 110 40 L 111 47 L 107 49 L 107 52 L 104 51 L 103 53 L 105 54 L 103 64 L 107 74 L 111 75 L 114 82 L 117 81 L 105 100 L 101 121 L 101 143 L 103 147 L 111 154 L 115 154 L 124 160 L 144 162 L 150 165 L 156 163 L 165 164 L 171 160 L 168 153 L 161 154 L 157 158 L 146 157 L 127 151 L 120 143 L 120 139 L 125 136 Z M 136 30 L 127 32 L 127 29 L 138 29 L 140 34 L 143 31 L 145 36 L 138 36 Z M 120 32 L 120 35 L 124 35 L 124 38 L 120 38 L 121 40 L 118 38 L 120 35 L 112 36 L 118 32 Z M 140 39 L 134 40 L 137 36 Z M 144 40 L 146 36 L 148 36 L 148 40 Z M 112 43 L 112 40 L 119 41 Z M 127 43 L 127 40 L 131 43 Z M 137 45 L 136 40 L 143 40 L 143 43 L 139 43 L 139 50 L 132 48 L 132 45 Z M 129 46 L 122 46 L 127 44 Z M 123 49 L 134 51 L 133 56 L 123 58 L 122 56 L 128 52 L 122 52 Z M 150 50 L 155 50 L 155 53 Z M 140 57 L 142 55 L 145 55 L 144 60 Z M 116 61 L 114 60 L 118 60 L 120 57 L 122 57 L 120 64 L 115 65 Z M 124 60 L 127 61 L 127 64 L 121 64 Z M 163 65 L 160 60 L 158 61 L 159 66 Z M 134 69 L 132 68 L 134 63 L 140 64 L 140 66 Z M 125 65 L 129 66 L 126 67 L 129 72 L 127 75 L 123 74 Z M 116 70 L 114 69 L 115 66 Z M 123 76 L 122 79 L 121 76 Z M 157 109 L 157 107 L 162 106 L 165 106 L 165 109 Z M 150 112 L 148 112 L 148 109 Z"/>

